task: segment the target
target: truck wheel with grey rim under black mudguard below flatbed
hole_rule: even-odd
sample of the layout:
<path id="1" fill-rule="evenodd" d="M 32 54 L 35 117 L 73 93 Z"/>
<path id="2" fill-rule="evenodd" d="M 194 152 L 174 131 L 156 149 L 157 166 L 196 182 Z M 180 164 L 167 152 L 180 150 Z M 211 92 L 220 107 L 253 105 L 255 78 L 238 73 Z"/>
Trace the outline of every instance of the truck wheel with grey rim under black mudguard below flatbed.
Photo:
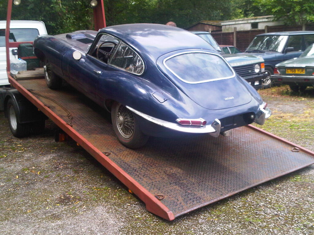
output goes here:
<path id="1" fill-rule="evenodd" d="M 18 107 L 12 99 L 7 103 L 7 115 L 12 134 L 17 138 L 22 138 L 30 134 L 30 123 L 19 123 Z"/>

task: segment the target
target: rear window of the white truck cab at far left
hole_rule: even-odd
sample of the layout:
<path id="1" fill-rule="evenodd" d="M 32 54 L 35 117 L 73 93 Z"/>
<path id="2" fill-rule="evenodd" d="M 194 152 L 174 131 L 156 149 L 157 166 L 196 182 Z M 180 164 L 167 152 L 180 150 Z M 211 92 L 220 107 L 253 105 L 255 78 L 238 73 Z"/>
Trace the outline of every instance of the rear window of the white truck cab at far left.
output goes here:
<path id="1" fill-rule="evenodd" d="M 10 29 L 9 42 L 33 42 L 38 35 L 38 29 Z M 5 29 L 0 32 L 0 46 L 5 46 Z"/>

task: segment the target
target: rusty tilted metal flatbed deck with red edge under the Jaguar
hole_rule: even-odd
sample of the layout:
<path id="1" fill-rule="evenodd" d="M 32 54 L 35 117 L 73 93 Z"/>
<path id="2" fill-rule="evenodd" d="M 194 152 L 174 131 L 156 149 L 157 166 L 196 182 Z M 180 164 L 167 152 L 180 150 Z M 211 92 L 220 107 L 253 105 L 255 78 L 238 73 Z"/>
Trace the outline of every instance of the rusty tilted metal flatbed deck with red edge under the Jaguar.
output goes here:
<path id="1" fill-rule="evenodd" d="M 11 84 L 143 200 L 148 211 L 167 220 L 314 163 L 310 150 L 253 126 L 237 128 L 230 137 L 150 138 L 141 149 L 127 149 L 105 111 L 78 92 L 52 91 L 44 80 Z M 73 116 L 72 126 L 60 105 Z"/>

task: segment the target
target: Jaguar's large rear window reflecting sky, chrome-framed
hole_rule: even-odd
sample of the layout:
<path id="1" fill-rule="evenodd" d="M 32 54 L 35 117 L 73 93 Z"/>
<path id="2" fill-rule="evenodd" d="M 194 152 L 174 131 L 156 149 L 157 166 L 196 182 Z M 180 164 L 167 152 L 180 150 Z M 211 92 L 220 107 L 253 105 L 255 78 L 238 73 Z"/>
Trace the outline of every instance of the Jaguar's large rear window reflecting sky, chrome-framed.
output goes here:
<path id="1" fill-rule="evenodd" d="M 165 67 L 186 83 L 196 84 L 228 79 L 234 71 L 219 55 L 209 52 L 185 52 L 167 57 Z"/>

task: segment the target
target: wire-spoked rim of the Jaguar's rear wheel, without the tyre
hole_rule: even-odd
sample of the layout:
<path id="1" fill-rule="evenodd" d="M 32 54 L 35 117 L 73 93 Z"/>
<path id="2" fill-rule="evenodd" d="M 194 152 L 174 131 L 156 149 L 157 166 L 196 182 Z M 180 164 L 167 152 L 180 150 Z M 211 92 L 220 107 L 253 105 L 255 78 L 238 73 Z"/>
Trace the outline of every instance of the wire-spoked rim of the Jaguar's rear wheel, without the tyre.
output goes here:
<path id="1" fill-rule="evenodd" d="M 116 119 L 120 134 L 126 139 L 131 138 L 134 133 L 133 113 L 126 107 L 119 104 L 116 112 Z"/>

